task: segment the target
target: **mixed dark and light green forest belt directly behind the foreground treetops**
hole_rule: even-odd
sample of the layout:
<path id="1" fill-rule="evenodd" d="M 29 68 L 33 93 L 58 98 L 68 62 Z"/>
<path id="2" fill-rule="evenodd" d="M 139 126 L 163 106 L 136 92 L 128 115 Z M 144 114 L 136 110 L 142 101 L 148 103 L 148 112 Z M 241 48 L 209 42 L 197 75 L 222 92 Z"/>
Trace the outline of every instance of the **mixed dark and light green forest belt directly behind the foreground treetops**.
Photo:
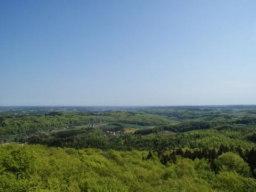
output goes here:
<path id="1" fill-rule="evenodd" d="M 225 146 L 238 146 L 243 149 L 256 148 L 251 137 L 256 129 L 209 130 L 204 132 L 178 133 L 171 136 L 149 134 L 108 135 L 103 129 L 82 129 L 63 131 L 56 134 L 38 135 L 29 138 L 17 138 L 21 142 L 41 144 L 49 147 L 70 147 L 76 149 L 99 148 L 102 150 L 157 150 L 168 151 L 174 148 L 218 148 Z"/>

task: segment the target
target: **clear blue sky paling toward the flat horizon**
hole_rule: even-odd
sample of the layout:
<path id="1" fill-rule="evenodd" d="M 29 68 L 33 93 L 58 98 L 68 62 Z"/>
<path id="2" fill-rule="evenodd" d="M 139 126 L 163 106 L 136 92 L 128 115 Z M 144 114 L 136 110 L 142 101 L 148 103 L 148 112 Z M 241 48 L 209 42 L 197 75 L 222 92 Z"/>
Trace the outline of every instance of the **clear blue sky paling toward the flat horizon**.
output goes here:
<path id="1" fill-rule="evenodd" d="M 0 1 L 0 106 L 256 104 L 256 1 Z"/>

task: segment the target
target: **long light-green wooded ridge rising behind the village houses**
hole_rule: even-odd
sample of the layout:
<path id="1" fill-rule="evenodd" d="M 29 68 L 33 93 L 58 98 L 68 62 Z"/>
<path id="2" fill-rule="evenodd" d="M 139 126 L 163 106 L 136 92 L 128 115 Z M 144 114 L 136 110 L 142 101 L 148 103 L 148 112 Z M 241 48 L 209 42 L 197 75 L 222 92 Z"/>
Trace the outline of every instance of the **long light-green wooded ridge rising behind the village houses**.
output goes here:
<path id="1" fill-rule="evenodd" d="M 44 130 L 52 127 L 79 126 L 89 123 L 118 122 L 138 125 L 168 125 L 170 119 L 146 113 L 123 111 L 109 112 L 51 112 L 45 115 L 20 115 L 0 117 L 0 135 L 21 134 L 27 130 Z"/>

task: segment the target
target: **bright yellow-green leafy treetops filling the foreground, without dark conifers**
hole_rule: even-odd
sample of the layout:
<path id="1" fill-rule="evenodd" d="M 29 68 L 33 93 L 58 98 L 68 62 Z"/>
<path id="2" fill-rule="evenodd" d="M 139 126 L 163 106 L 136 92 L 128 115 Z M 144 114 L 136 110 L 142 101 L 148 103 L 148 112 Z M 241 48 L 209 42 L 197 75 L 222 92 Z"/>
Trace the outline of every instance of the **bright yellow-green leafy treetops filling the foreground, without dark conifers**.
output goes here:
<path id="1" fill-rule="evenodd" d="M 178 155 L 175 163 L 162 165 L 157 153 L 147 151 L 9 144 L 0 154 L 1 191 L 254 191 L 256 181 L 233 170 L 215 174 L 205 158 Z M 14 154 L 20 158 L 15 165 Z"/>

